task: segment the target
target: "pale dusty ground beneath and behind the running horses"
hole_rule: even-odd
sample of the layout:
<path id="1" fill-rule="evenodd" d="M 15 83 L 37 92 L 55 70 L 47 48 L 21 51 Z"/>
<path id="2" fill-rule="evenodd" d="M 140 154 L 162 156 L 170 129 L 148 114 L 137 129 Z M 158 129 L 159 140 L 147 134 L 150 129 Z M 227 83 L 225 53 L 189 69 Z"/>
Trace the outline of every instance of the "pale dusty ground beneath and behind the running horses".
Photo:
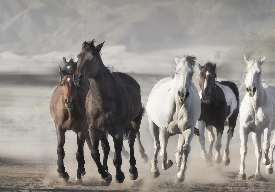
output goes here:
<path id="1" fill-rule="evenodd" d="M 226 76 L 224 77 L 230 78 Z M 148 76 L 133 74 L 141 85 L 142 102 L 144 105 L 152 86 L 161 76 Z M 197 75 L 198 76 L 198 75 Z M 231 77 L 240 85 L 240 73 Z M 219 75 L 222 77 L 222 75 Z M 70 175 L 68 182 L 63 182 L 56 177 L 57 146 L 53 120 L 49 113 L 50 96 L 58 84 L 53 77 L 45 83 L 45 77 L 34 77 L 26 80 L 26 77 L 13 77 L 13 81 L 1 78 L 0 86 L 0 190 L 3 191 L 274 191 L 275 175 L 266 175 L 265 166 L 261 165 L 264 179 L 250 179 L 239 181 L 236 176 L 240 164 L 240 138 L 237 125 L 230 146 L 230 164 L 227 167 L 215 165 L 207 168 L 201 158 L 198 137 L 192 141 L 192 149 L 189 154 L 185 182 L 175 184 L 174 176 L 176 166 L 166 171 L 161 169 L 159 160 L 160 177 L 152 178 L 150 173 L 150 160 L 153 153 L 152 137 L 148 129 L 147 117 L 142 120 L 141 139 L 145 152 L 149 156 L 149 162 L 141 161 L 137 145 L 135 156 L 139 177 L 131 181 L 128 176 L 129 160 L 123 159 L 122 170 L 125 173 L 125 181 L 117 184 L 112 181 L 109 187 L 102 187 L 100 175 L 85 145 L 86 175 L 83 184 L 74 183 L 76 177 L 77 161 L 75 159 L 76 135 L 73 132 L 66 133 L 64 165 Z M 25 80 L 24 80 L 25 79 Z M 197 78 L 193 80 L 198 84 Z M 227 131 L 227 128 L 225 128 Z M 223 136 L 222 154 L 225 146 L 226 135 Z M 168 143 L 168 158 L 175 162 L 175 149 L 178 136 L 171 137 Z M 207 140 L 207 139 L 206 139 Z M 110 143 L 112 143 L 109 138 Z M 129 150 L 127 142 L 124 143 Z M 111 146 L 111 150 L 113 147 Z M 248 141 L 248 154 L 246 158 L 246 174 L 251 176 L 255 172 L 256 158 L 255 148 L 251 137 Z M 215 153 L 215 148 L 213 149 Z M 108 167 L 111 174 L 115 175 L 112 159 L 108 159 Z"/>

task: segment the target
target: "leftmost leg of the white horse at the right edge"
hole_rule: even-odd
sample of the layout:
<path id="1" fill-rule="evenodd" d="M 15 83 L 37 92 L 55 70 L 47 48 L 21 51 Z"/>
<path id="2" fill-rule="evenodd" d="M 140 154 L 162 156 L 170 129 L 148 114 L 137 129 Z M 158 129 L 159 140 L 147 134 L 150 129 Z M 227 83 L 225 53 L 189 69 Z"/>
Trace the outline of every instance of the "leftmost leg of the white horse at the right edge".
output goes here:
<path id="1" fill-rule="evenodd" d="M 246 180 L 245 176 L 245 165 L 244 165 L 244 159 L 245 155 L 247 153 L 247 141 L 248 141 L 248 130 L 243 125 L 240 125 L 240 140 L 241 140 L 241 147 L 240 147 L 240 155 L 241 155 L 241 163 L 240 163 L 240 172 L 239 172 L 239 179 L 240 180 Z"/>

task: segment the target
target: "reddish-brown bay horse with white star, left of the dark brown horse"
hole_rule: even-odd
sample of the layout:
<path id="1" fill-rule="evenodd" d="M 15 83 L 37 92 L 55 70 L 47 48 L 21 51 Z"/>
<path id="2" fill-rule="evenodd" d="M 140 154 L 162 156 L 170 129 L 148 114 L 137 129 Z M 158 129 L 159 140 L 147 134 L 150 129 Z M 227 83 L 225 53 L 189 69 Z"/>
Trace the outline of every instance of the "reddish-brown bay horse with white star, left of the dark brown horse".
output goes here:
<path id="1" fill-rule="evenodd" d="M 71 59 L 69 62 L 63 57 L 64 67 L 60 68 L 59 74 L 61 77 L 60 84 L 54 90 L 50 101 L 50 114 L 54 119 L 57 134 L 57 176 L 68 181 L 70 178 L 64 167 L 64 143 L 65 132 L 72 130 L 77 134 L 77 151 L 76 159 L 78 162 L 77 177 L 75 181 L 82 183 L 81 176 L 85 175 L 85 160 L 83 156 L 83 145 L 86 139 L 90 147 L 90 137 L 86 137 L 88 132 L 85 100 L 90 87 L 85 83 L 81 87 L 76 87 L 73 83 L 72 73 L 74 73 L 76 63 Z M 70 67 L 68 67 L 70 66 Z"/>

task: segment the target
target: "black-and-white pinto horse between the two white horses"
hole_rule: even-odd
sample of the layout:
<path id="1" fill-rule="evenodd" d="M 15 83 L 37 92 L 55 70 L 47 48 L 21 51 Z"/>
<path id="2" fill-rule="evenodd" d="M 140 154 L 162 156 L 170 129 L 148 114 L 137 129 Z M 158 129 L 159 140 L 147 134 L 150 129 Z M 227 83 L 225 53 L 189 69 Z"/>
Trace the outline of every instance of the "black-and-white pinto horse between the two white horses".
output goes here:
<path id="1" fill-rule="evenodd" d="M 199 142 L 202 148 L 202 158 L 207 162 L 207 166 L 212 167 L 212 147 L 215 141 L 213 127 L 216 128 L 217 141 L 215 144 L 215 162 L 225 166 L 229 165 L 229 144 L 233 137 L 239 114 L 239 91 L 235 83 L 229 81 L 216 81 L 216 63 L 207 62 L 204 66 L 198 65 L 200 69 L 200 103 L 201 114 L 198 120 L 200 132 Z M 227 131 L 227 142 L 222 158 L 220 150 L 222 147 L 222 134 L 224 125 L 228 120 L 229 129 Z M 207 129 L 210 147 L 207 153 L 205 149 L 204 129 Z"/>

